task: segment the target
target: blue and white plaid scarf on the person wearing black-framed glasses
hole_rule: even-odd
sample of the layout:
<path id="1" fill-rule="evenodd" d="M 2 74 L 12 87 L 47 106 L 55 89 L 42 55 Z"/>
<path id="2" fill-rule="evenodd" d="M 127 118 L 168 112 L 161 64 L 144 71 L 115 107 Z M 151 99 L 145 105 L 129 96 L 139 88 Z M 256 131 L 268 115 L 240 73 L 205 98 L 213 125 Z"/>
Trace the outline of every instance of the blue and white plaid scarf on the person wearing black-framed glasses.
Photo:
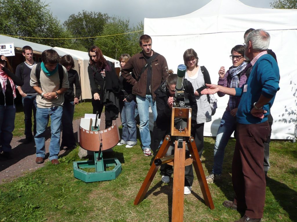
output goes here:
<path id="1" fill-rule="evenodd" d="M 247 67 L 247 62 L 241 63 L 238 67 L 233 67 L 229 70 L 229 75 L 232 77 L 230 88 L 238 88 L 239 87 L 239 74 L 244 71 L 245 67 Z M 230 110 L 233 110 L 236 105 L 236 97 L 229 97 L 229 107 Z"/>

